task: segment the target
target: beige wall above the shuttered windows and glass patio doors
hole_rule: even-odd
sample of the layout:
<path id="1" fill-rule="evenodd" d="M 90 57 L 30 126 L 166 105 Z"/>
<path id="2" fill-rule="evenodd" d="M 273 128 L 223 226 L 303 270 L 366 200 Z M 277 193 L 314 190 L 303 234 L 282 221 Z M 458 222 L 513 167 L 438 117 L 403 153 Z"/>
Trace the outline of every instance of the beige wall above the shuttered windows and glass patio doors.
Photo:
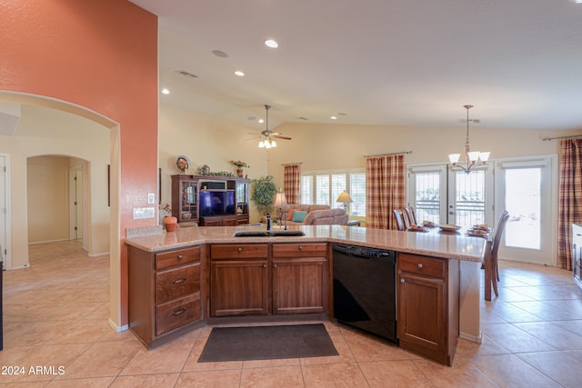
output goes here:
<path id="1" fill-rule="evenodd" d="M 277 142 L 270 153 L 269 174 L 283 183 L 281 164 L 301 162 L 302 171 L 364 168 L 365 155 L 406 154 L 406 164 L 448 163 L 448 154 L 463 153 L 467 128 L 407 128 L 349 124 L 282 124 L 278 132 L 293 138 Z M 580 131 L 470 129 L 472 149 L 491 151 L 491 158 L 558 154 L 559 141 L 544 137 L 582 134 Z"/>

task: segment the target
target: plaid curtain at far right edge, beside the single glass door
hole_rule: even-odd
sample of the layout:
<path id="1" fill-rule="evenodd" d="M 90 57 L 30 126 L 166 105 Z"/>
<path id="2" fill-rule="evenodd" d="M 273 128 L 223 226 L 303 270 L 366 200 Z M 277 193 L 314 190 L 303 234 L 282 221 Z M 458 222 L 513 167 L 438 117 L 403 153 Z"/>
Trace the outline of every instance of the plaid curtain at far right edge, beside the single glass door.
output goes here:
<path id="1" fill-rule="evenodd" d="M 582 139 L 560 142 L 557 266 L 572 271 L 572 224 L 582 221 Z"/>

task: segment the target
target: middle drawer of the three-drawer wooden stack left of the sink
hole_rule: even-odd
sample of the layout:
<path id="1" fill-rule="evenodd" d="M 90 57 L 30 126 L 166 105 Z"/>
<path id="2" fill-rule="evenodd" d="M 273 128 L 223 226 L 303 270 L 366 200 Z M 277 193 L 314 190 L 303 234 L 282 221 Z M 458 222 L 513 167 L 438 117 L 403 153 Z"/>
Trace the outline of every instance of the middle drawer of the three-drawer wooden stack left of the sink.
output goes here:
<path id="1" fill-rule="evenodd" d="M 200 291 L 200 263 L 156 274 L 156 303 Z"/>

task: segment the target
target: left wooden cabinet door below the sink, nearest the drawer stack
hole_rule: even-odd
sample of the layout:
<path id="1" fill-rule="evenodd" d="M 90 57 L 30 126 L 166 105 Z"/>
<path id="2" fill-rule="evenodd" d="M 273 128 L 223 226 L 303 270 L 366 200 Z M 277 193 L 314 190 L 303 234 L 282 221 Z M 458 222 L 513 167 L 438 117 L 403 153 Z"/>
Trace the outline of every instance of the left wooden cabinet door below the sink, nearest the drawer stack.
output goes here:
<path id="1" fill-rule="evenodd" d="M 268 313 L 266 260 L 210 262 L 210 316 Z"/>

